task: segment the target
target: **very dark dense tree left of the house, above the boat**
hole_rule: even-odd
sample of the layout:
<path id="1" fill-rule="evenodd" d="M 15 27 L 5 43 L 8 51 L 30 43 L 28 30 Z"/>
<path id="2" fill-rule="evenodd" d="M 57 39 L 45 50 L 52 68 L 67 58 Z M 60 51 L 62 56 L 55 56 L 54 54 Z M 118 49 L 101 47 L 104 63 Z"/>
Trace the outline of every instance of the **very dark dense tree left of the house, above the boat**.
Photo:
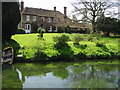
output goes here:
<path id="1" fill-rule="evenodd" d="M 17 31 L 20 22 L 18 2 L 2 3 L 2 38 L 10 39 Z"/>

